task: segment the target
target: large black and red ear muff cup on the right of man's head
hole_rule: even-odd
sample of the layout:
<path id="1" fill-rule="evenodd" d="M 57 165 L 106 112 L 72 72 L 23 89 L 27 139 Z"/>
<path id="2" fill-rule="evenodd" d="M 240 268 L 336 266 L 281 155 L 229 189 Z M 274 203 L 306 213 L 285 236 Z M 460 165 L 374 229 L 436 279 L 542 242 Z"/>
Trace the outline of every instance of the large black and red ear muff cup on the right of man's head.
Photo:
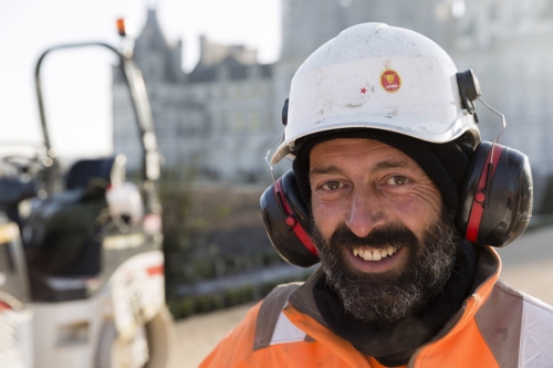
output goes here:
<path id="1" fill-rule="evenodd" d="M 465 176 L 457 227 L 480 245 L 504 246 L 528 227 L 533 185 L 528 157 L 509 147 L 482 141 Z M 492 162 L 492 165 L 490 165 Z"/>

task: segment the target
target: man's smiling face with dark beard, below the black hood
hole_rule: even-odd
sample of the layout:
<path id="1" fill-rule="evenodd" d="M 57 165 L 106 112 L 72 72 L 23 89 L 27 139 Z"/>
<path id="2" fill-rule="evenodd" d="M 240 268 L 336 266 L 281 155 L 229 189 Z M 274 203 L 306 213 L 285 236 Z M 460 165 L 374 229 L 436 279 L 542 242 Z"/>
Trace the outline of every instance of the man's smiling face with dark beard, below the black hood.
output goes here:
<path id="1" fill-rule="evenodd" d="M 458 253 L 430 178 L 373 139 L 321 143 L 310 162 L 314 239 L 345 308 L 362 320 L 394 322 L 425 307 Z"/>

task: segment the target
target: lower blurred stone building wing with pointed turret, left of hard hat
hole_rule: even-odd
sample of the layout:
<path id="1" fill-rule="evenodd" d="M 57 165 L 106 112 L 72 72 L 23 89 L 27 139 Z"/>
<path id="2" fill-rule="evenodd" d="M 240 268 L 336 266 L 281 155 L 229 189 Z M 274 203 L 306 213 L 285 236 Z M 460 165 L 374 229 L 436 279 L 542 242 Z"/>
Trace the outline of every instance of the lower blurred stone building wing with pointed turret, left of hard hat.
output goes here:
<path id="1" fill-rule="evenodd" d="M 181 69 L 182 44 L 169 44 L 155 10 L 135 41 L 165 167 L 194 168 L 200 178 L 252 182 L 269 180 L 267 150 L 282 134 L 274 111 L 273 64 L 257 51 L 200 38 L 200 60 Z M 139 140 L 122 76 L 114 67 L 114 149 L 139 167 Z"/>

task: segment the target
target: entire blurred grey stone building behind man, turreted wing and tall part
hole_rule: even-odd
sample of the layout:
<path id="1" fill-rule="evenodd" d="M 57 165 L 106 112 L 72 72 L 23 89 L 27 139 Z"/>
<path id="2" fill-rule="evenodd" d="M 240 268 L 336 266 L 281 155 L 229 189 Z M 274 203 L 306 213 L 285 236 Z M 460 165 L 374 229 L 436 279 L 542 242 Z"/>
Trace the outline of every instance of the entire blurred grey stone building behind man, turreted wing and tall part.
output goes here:
<path id="1" fill-rule="evenodd" d="M 200 60 L 188 74 L 181 43 L 167 43 L 150 10 L 135 54 L 166 164 L 194 164 L 209 178 L 269 178 L 263 157 L 282 133 L 282 103 L 296 69 L 345 28 L 368 21 L 420 32 L 459 70 L 472 69 L 482 98 L 507 117 L 501 143 L 525 153 L 534 172 L 553 172 L 551 0 L 282 0 L 278 62 L 263 65 L 254 50 L 201 38 Z M 122 94 L 115 77 L 115 148 L 132 153 Z M 500 118 L 480 103 L 477 111 L 483 138 L 492 140 Z"/>

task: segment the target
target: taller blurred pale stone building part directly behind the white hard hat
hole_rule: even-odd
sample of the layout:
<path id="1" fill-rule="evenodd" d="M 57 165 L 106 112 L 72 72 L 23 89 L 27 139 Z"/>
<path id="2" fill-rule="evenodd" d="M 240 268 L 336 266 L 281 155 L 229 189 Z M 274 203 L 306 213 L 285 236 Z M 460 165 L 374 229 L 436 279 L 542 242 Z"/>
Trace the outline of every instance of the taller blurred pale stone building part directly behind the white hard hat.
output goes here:
<path id="1" fill-rule="evenodd" d="M 460 71 L 472 69 L 482 98 L 505 115 L 503 145 L 525 153 L 536 175 L 553 172 L 553 1 L 283 0 L 282 99 L 301 62 L 347 27 L 378 21 L 427 35 Z M 301 35 L 301 36 L 300 36 Z M 501 119 L 477 103 L 484 139 Z"/>

